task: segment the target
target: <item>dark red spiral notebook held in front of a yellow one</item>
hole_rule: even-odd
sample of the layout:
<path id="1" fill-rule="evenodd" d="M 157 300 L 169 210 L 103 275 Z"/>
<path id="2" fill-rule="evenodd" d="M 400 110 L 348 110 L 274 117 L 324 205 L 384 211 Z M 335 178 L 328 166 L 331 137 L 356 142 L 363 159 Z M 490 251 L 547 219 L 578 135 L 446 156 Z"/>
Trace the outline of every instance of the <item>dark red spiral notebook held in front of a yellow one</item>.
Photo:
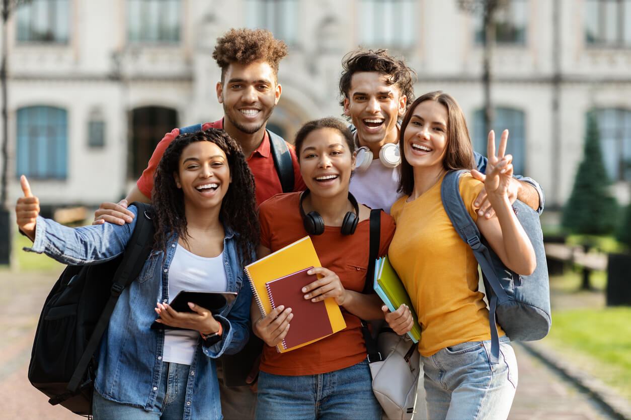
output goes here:
<path id="1" fill-rule="evenodd" d="M 290 321 L 289 331 L 279 344 L 283 349 L 333 334 L 324 300 L 311 302 L 305 299 L 305 293 L 301 291 L 303 287 L 317 280 L 316 275 L 307 274 L 312 268 L 305 268 L 265 283 L 272 309 L 280 305 L 292 308 L 293 319 Z"/>

